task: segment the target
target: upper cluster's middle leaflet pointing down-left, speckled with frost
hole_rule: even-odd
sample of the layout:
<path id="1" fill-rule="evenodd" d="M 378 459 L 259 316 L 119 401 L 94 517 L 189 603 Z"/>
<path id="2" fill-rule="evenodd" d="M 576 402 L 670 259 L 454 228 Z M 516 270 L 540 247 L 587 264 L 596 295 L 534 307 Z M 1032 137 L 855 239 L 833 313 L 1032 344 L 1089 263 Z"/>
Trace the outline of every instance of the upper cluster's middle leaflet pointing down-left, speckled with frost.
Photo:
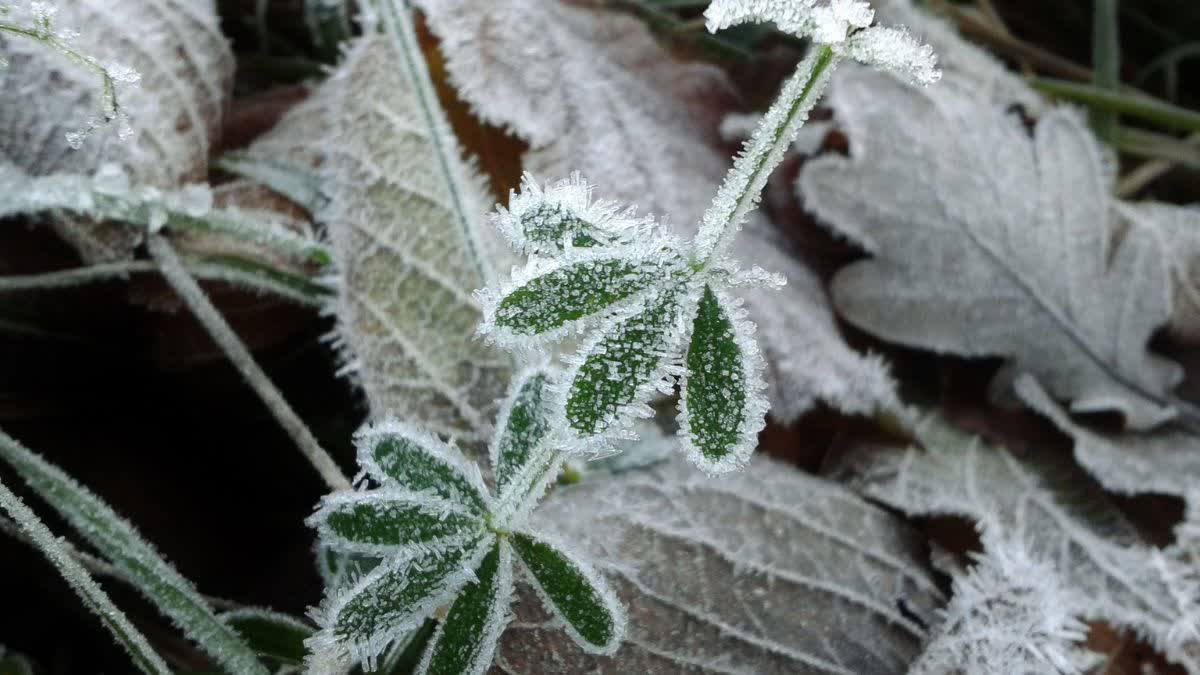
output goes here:
<path id="1" fill-rule="evenodd" d="M 576 435 L 619 431 L 630 417 L 649 417 L 652 395 L 670 393 L 686 301 L 683 288 L 667 286 L 610 319 L 580 347 L 564 378 L 563 414 Z"/>

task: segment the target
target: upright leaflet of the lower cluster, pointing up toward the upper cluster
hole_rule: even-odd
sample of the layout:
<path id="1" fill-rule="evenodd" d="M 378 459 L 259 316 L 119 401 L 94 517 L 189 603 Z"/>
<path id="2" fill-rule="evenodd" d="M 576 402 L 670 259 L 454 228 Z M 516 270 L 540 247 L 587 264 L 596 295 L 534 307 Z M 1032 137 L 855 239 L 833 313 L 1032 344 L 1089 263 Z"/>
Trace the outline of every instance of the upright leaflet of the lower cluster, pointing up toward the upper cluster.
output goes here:
<path id="1" fill-rule="evenodd" d="M 499 440 L 492 450 L 496 492 L 502 498 L 505 489 L 528 464 L 534 449 L 550 431 L 548 384 L 550 376 L 546 372 L 534 372 L 517 386 L 511 398 L 511 407 L 502 422 Z"/>

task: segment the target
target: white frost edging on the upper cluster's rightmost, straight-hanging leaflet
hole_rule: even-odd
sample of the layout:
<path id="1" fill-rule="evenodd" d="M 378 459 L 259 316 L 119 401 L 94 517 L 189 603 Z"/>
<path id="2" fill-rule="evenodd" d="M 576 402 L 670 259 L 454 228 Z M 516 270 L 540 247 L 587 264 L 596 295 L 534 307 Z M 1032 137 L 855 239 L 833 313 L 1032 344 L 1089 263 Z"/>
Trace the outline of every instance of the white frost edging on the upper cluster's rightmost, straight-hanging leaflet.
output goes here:
<path id="1" fill-rule="evenodd" d="M 688 407 L 688 372 L 682 380 L 679 398 L 679 437 L 683 441 L 683 449 L 688 459 L 709 476 L 718 476 L 737 471 L 750 461 L 750 455 L 758 447 L 758 432 L 767 426 L 767 382 L 763 380 L 763 371 L 767 368 L 758 351 L 758 341 L 755 338 L 757 327 L 748 318 L 743 300 L 734 298 L 720 288 L 714 288 L 718 303 L 722 313 L 733 324 L 733 336 L 742 357 L 742 383 L 744 384 L 742 395 L 745 402 L 742 406 L 742 419 L 738 423 L 737 443 L 728 449 L 728 453 L 718 461 L 713 461 L 692 442 L 690 426 L 690 412 Z M 694 306 L 694 305 L 692 305 Z M 690 338 L 685 338 L 686 342 Z M 726 393 L 726 396 L 730 394 Z"/>

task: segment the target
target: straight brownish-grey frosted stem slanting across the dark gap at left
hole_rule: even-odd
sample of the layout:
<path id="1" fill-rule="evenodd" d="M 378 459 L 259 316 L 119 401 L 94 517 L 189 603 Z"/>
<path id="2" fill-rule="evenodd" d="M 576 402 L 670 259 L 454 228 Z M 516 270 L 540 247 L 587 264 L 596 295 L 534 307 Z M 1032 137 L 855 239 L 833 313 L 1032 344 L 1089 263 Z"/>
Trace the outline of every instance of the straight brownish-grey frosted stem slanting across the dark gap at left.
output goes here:
<path id="1" fill-rule="evenodd" d="M 154 257 L 155 262 L 158 263 L 158 268 L 162 270 L 163 276 L 170 287 L 175 289 L 184 304 L 192 311 L 200 324 L 209 331 L 212 340 L 221 347 L 226 357 L 233 363 L 238 372 L 246 378 L 258 398 L 266 404 L 266 407 L 278 420 L 283 430 L 292 436 L 300 452 L 304 453 L 308 462 L 312 464 L 317 473 L 325 480 L 331 490 L 348 490 L 350 488 L 349 479 L 346 474 L 337 467 L 334 459 L 329 456 L 317 442 L 317 438 L 305 425 L 304 420 L 292 410 L 284 400 L 283 394 L 271 383 L 259 368 L 258 363 L 254 362 L 254 357 L 251 356 L 250 350 L 241 342 L 238 335 L 229 328 L 224 317 L 221 312 L 212 305 L 209 297 L 204 294 L 200 289 L 200 285 L 196 282 L 196 279 L 184 268 L 184 263 L 179 259 L 179 255 L 172 247 L 170 243 L 158 234 L 152 234 L 149 238 L 148 245 L 150 247 L 150 255 Z"/>

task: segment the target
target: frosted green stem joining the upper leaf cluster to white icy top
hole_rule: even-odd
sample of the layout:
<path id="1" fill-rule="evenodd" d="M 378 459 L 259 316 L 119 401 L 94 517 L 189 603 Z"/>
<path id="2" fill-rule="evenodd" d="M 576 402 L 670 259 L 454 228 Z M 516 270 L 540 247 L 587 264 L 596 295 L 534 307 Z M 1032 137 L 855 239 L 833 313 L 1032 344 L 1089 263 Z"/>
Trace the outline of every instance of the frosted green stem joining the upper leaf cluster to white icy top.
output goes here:
<path id="1" fill-rule="evenodd" d="M 832 47 L 817 43 L 784 85 L 704 214 L 694 267 L 704 269 L 728 246 L 746 214 L 758 203 L 770 173 L 809 119 L 839 60 Z"/>

